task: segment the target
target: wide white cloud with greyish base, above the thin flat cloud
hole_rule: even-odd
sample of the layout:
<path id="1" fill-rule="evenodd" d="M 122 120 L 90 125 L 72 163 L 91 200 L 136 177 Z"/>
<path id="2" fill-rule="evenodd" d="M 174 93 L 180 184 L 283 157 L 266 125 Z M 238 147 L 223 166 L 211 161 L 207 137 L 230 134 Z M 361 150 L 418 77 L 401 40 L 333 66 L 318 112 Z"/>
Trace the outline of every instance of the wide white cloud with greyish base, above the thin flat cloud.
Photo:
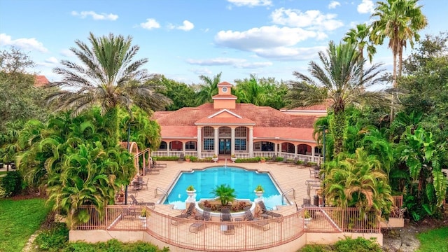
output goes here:
<path id="1" fill-rule="evenodd" d="M 247 31 L 219 31 L 215 43 L 228 48 L 253 51 L 260 48 L 291 46 L 307 38 L 321 38 L 316 31 L 290 27 L 260 27 Z"/>

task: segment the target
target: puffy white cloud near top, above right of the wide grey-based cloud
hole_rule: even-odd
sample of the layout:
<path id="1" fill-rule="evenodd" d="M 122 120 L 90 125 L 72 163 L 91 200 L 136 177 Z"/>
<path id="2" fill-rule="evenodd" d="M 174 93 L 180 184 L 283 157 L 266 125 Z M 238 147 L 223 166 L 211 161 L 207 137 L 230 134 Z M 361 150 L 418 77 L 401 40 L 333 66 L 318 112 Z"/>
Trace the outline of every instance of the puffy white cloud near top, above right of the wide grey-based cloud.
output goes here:
<path id="1" fill-rule="evenodd" d="M 335 14 L 323 14 L 319 10 L 301 10 L 279 8 L 271 13 L 272 22 L 277 25 L 287 25 L 290 27 L 308 27 L 309 29 L 319 29 L 332 31 L 344 25 L 336 20 Z"/>

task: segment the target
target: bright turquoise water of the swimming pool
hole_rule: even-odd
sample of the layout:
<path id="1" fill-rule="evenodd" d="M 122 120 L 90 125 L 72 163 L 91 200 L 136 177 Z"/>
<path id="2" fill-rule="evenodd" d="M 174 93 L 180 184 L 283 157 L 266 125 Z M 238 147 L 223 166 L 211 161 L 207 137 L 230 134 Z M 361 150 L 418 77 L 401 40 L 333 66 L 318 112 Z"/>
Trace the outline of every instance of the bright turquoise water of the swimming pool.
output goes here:
<path id="1" fill-rule="evenodd" d="M 214 198 L 211 190 L 221 184 L 235 188 L 237 199 L 255 200 L 253 190 L 260 184 L 265 188 L 263 195 L 267 207 L 275 209 L 281 205 L 281 193 L 272 182 L 269 174 L 248 171 L 236 167 L 213 167 L 194 172 L 183 172 L 177 183 L 168 192 L 164 204 L 174 204 L 176 209 L 185 209 L 187 200 L 186 188 L 193 185 L 196 189 L 196 200 Z"/>

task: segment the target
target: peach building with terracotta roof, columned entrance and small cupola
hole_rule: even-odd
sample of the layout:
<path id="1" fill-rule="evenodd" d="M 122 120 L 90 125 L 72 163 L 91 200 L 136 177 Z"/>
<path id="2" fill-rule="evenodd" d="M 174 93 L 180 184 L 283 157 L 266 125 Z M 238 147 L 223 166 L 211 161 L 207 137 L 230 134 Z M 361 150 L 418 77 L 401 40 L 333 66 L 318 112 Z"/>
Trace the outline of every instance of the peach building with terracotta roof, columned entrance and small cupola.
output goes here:
<path id="1" fill-rule="evenodd" d="M 191 155 L 237 158 L 274 155 L 318 162 L 321 155 L 313 139 L 313 124 L 326 111 L 279 111 L 267 106 L 237 104 L 232 85 L 218 84 L 214 102 L 178 111 L 158 111 L 153 119 L 162 128 L 162 144 L 153 156 Z"/>

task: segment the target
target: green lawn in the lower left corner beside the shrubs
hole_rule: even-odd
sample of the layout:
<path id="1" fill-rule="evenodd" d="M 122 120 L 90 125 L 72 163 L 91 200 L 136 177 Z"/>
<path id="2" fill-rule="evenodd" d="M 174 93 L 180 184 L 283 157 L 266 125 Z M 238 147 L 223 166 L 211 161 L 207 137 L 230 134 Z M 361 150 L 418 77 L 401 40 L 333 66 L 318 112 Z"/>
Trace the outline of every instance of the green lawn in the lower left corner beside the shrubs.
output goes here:
<path id="1" fill-rule="evenodd" d="M 45 220 L 45 200 L 0 200 L 0 251 L 22 251 Z"/>

